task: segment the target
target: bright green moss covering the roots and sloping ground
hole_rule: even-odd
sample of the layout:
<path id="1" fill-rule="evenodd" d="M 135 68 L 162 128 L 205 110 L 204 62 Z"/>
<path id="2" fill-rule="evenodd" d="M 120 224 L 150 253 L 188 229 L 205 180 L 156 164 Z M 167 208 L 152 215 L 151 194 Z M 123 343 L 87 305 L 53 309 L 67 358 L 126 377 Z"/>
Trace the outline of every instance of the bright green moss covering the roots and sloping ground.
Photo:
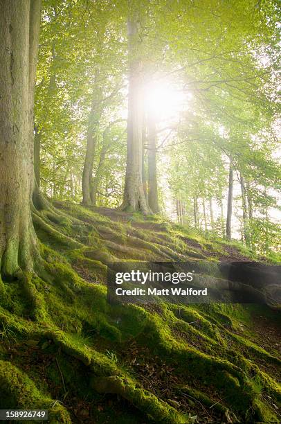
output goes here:
<path id="1" fill-rule="evenodd" d="M 242 421 L 252 422 L 276 418 L 271 403 L 280 402 L 280 387 L 260 370 L 257 360 L 275 365 L 280 360 L 246 335 L 236 334 L 241 322 L 251 326 L 250 309 L 167 303 L 156 308 L 111 306 L 107 303 L 105 285 L 96 284 L 105 283 L 110 263 L 136 258 L 185 260 L 203 275 L 219 276 L 217 260 L 208 260 L 205 253 L 212 251 L 219 256 L 223 250 L 220 242 L 190 234 L 188 229 L 163 222 L 159 217 L 132 215 L 131 223 L 127 224 L 111 221 L 82 206 L 61 206 L 62 215 L 60 211 L 36 214 L 35 225 L 42 240 L 42 260 L 36 266 L 37 274 L 19 273 L 13 280 L 0 280 L 3 405 L 16 402 L 27 407 L 30 398 L 33 408 L 47 404 L 50 407 L 54 396 L 48 389 L 53 390 L 52 384 L 62 386 L 55 363 L 46 371 L 53 383 L 42 386 L 33 366 L 27 376 L 24 361 L 17 358 L 17 353 L 10 357 L 10 349 L 17 352 L 20 346 L 35 342 L 42 355 L 59 353 L 65 382 L 77 391 L 76 396 L 95 397 L 98 391 L 104 391 L 122 396 L 127 405 L 141 409 L 147 421 L 188 422 L 189 418 L 168 405 L 154 387 L 154 393 L 147 390 L 135 365 L 137 358 L 132 363 L 123 361 L 122 351 L 134 340 L 137 352 L 145 348 L 152 361 L 161 357 L 172 367 L 176 378 L 185 382 L 184 387 L 188 383 L 188 393 L 191 396 L 193 393 L 204 405 L 212 402 L 206 395 L 211 388 L 221 398 L 217 409 L 221 413 L 228 410 L 233 419 L 238 416 Z M 141 229 L 134 228 L 139 224 Z M 155 231 L 147 224 L 153 224 Z M 198 247 L 188 248 L 185 238 L 192 238 Z M 262 311 L 266 312 L 266 308 Z M 276 315 L 270 315 L 270 319 L 275 320 Z M 79 373 L 77 378 L 71 370 L 73 361 L 80 364 L 75 368 Z M 71 385 L 70 376 L 77 389 Z M 92 389 L 87 391 L 85 382 L 90 377 Z M 116 391 L 112 391 L 112 385 L 117 387 Z M 194 391 L 197 386 L 198 393 Z M 22 387 L 26 387 L 23 394 Z M 271 402 L 262 396 L 264 393 L 271 396 Z M 64 400 L 65 393 L 60 389 L 55 396 Z M 51 409 L 59 417 L 52 418 L 57 419 L 53 422 L 71 422 L 67 421 L 69 415 L 60 403 Z M 129 422 L 130 415 L 126 417 Z"/>

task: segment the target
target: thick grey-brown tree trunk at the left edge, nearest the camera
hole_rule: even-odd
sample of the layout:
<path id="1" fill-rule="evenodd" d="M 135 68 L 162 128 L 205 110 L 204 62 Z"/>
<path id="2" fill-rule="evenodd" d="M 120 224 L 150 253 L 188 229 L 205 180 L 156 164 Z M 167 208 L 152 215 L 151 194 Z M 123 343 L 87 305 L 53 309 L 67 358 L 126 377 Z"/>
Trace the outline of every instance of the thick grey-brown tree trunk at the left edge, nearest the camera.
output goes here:
<path id="1" fill-rule="evenodd" d="M 0 270 L 33 269 L 33 104 L 39 0 L 0 1 Z"/>

